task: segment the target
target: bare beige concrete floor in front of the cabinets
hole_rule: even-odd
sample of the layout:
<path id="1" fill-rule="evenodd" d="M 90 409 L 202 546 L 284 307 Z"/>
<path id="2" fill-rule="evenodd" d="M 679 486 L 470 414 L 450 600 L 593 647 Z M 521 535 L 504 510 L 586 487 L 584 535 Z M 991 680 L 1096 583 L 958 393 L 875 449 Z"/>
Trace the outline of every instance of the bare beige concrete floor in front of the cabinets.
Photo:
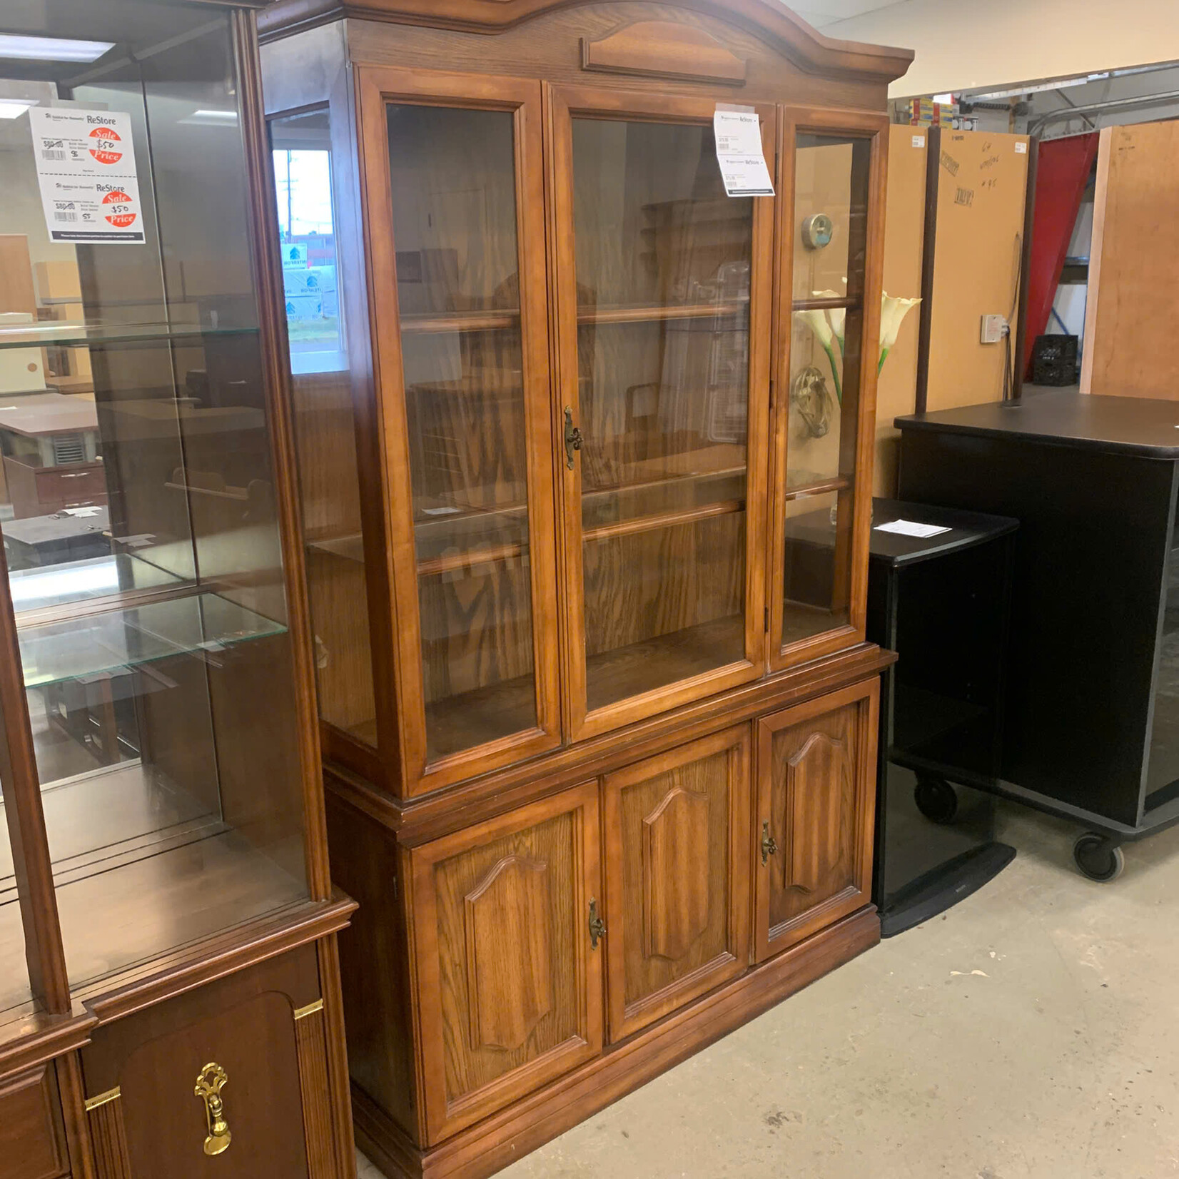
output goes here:
<path id="1" fill-rule="evenodd" d="M 1179 1175 L 1179 829 L 1113 884 L 1076 834 L 1005 805 L 984 889 L 501 1179 Z"/>

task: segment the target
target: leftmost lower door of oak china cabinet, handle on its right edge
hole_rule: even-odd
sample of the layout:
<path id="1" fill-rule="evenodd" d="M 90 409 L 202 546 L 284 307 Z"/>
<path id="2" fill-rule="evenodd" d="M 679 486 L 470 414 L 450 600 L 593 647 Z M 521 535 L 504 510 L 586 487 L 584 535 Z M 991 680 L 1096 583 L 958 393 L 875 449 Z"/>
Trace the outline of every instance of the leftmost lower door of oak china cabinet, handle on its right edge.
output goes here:
<path id="1" fill-rule="evenodd" d="M 433 1145 L 601 1050 L 598 784 L 415 848 L 408 877 Z"/>

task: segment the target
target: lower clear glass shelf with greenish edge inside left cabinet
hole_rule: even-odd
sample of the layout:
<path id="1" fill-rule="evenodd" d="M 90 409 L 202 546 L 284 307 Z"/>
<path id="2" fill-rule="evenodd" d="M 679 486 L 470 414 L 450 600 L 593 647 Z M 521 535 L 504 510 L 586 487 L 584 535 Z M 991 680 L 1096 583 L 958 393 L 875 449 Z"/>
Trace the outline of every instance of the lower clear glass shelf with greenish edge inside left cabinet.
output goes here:
<path id="1" fill-rule="evenodd" d="M 29 626 L 20 631 L 25 687 L 118 673 L 187 652 L 219 651 L 285 630 L 212 593 Z"/>

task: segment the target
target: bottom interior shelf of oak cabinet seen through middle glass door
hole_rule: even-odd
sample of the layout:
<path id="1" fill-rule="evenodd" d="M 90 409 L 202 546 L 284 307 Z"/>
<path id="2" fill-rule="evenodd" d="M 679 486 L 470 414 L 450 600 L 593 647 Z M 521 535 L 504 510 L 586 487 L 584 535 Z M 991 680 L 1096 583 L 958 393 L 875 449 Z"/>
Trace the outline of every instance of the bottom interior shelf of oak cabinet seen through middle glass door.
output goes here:
<path id="1" fill-rule="evenodd" d="M 586 659 L 590 711 L 744 658 L 745 619 L 740 614 L 602 651 Z"/>

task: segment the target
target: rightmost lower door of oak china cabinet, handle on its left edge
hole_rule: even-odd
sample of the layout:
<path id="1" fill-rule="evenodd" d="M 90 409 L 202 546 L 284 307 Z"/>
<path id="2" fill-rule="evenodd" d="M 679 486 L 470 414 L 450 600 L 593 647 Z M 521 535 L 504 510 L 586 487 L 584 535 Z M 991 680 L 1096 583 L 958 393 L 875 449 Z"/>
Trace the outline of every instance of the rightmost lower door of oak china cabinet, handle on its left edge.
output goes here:
<path id="1" fill-rule="evenodd" d="M 870 900 L 878 706 L 874 679 L 757 724 L 758 961 Z"/>

